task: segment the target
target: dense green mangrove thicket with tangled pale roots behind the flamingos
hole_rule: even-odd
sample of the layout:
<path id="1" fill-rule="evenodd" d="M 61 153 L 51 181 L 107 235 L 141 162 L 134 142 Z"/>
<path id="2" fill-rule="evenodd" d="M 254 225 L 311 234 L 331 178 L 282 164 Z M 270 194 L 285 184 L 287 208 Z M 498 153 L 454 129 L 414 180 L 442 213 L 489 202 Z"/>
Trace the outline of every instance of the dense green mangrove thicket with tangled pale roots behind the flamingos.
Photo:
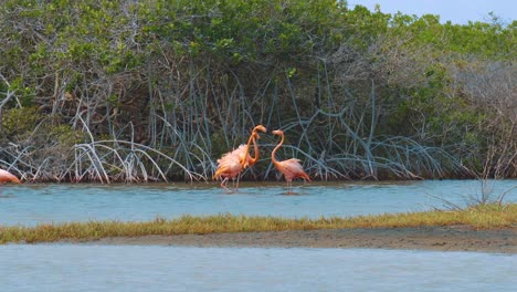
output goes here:
<path id="1" fill-rule="evenodd" d="M 281 155 L 323 179 L 516 177 L 516 22 L 492 17 L 6 0 L 0 166 L 31 179 L 207 178 L 261 123 L 285 129 Z M 274 143 L 263 135 L 263 156 Z M 249 174 L 273 177 L 268 164 Z"/>

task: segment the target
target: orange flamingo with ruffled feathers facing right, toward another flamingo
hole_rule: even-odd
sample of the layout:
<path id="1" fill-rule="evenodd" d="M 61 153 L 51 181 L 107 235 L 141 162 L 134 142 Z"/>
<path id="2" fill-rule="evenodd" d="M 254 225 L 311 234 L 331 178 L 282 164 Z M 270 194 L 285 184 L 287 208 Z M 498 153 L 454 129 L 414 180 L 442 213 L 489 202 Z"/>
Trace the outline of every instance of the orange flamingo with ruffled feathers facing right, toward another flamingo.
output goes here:
<path id="1" fill-rule="evenodd" d="M 257 131 L 266 132 L 266 128 L 263 125 L 257 125 L 253 128 L 250 138 L 247 139 L 247 144 L 243 144 L 239 146 L 239 148 L 224 154 L 220 159 L 218 159 L 218 169 L 213 175 L 213 179 L 218 179 L 220 177 L 223 178 L 221 181 L 221 187 L 230 191 L 226 187 L 228 180 L 231 178 L 232 180 L 238 178 L 236 187 L 239 188 L 239 175 L 241 171 L 256 163 L 258 159 L 258 146 L 256 145 L 256 139 L 260 138 Z M 250 144 L 253 142 L 255 157 L 251 157 L 249 154 Z"/>

